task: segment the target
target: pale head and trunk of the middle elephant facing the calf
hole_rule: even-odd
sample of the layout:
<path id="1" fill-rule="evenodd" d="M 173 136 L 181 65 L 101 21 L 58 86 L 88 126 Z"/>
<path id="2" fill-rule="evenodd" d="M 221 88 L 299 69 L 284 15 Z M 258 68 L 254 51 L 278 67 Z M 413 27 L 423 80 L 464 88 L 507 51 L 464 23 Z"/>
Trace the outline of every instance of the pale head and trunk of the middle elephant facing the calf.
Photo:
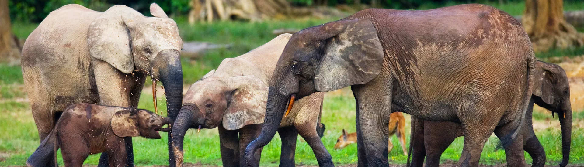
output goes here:
<path id="1" fill-rule="evenodd" d="M 263 123 L 267 85 L 253 75 L 219 78 L 213 72 L 190 86 L 173 124 L 172 148 L 177 166 L 182 164 L 183 138 L 189 128 L 215 128 L 222 124 L 226 130 L 237 130 Z"/>

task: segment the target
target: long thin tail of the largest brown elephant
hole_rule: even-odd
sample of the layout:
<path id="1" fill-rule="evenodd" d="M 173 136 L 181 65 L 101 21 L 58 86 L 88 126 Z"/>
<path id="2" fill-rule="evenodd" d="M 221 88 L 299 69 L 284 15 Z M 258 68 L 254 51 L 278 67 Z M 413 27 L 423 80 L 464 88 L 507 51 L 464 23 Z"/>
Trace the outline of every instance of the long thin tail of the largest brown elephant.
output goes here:
<path id="1" fill-rule="evenodd" d="M 533 83 L 534 83 L 534 79 L 536 78 L 536 57 L 533 54 L 533 47 L 530 47 L 530 51 L 529 53 L 527 53 L 526 55 L 526 61 L 527 61 L 527 78 L 526 78 L 526 91 L 524 92 L 523 95 L 523 101 L 522 101 L 522 105 L 521 105 L 521 115 L 520 116 L 516 116 L 520 118 L 519 124 L 517 125 L 517 128 L 515 130 L 515 132 L 513 132 L 513 134 L 510 137 L 510 141 L 515 141 L 517 139 L 517 136 L 520 135 L 522 133 L 522 127 L 523 124 L 525 122 L 525 113 L 527 112 L 527 109 L 529 109 L 529 102 L 531 100 L 531 95 L 533 94 Z M 506 142 L 509 140 L 502 140 L 503 144 L 506 144 Z M 510 142 L 509 142 L 510 143 Z"/>

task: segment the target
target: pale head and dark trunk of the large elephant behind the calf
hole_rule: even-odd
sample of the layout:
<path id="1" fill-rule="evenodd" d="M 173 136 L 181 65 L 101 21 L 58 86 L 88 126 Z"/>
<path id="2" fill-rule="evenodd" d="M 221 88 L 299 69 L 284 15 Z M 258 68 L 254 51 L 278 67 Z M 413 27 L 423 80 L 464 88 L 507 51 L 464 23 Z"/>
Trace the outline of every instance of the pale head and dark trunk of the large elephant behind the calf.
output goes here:
<path id="1" fill-rule="evenodd" d="M 89 26 L 89 53 L 120 72 L 142 72 L 161 81 L 168 116 L 174 119 L 182 104 L 182 39 L 175 21 L 157 4 L 151 4 L 150 13 L 154 17 L 124 5 L 107 9 Z"/>

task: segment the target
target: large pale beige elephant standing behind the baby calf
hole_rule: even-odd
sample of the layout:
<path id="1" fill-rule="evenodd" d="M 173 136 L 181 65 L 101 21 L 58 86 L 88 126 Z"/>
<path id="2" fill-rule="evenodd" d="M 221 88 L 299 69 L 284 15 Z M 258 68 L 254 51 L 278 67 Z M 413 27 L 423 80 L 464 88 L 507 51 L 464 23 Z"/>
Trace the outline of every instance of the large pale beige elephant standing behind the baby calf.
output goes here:
<path id="1" fill-rule="evenodd" d="M 147 75 L 162 82 L 168 115 L 176 117 L 182 104 L 182 40 L 175 21 L 158 5 L 150 12 L 155 17 L 123 5 L 105 12 L 65 5 L 30 34 L 22 74 L 41 141 L 68 105 L 137 107 Z M 127 165 L 133 166 L 131 140 L 126 147 Z M 100 166 L 106 165 L 102 154 Z"/>

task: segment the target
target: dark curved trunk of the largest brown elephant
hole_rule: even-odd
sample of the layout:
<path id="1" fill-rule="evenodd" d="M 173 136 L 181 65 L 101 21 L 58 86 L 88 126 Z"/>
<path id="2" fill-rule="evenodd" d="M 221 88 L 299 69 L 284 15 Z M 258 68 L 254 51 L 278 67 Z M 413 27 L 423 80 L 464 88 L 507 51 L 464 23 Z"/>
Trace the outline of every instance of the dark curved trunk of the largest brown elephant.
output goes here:
<path id="1" fill-rule="evenodd" d="M 245 149 L 245 161 L 248 166 L 253 164 L 253 153 L 267 145 L 280 127 L 280 122 L 286 111 L 287 95 L 282 95 L 270 88 L 267 96 L 266 116 L 259 137 L 249 143 Z"/>

